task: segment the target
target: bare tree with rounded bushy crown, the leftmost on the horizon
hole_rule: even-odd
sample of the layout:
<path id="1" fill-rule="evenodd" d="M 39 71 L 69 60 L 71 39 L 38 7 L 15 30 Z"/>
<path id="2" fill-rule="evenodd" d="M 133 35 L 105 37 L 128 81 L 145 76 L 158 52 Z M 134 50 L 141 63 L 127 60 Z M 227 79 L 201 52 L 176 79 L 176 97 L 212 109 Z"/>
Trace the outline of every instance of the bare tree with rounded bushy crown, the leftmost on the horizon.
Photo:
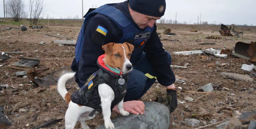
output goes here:
<path id="1" fill-rule="evenodd" d="M 7 14 L 13 18 L 15 22 L 19 22 L 24 16 L 25 4 L 23 0 L 8 0 L 6 1 Z"/>

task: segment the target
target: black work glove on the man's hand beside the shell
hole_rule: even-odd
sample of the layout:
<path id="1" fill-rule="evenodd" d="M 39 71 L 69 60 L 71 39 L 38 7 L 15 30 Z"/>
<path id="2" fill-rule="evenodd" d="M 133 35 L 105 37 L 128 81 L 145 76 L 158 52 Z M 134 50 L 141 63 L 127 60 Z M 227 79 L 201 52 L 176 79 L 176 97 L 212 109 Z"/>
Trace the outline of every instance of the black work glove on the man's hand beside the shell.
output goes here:
<path id="1" fill-rule="evenodd" d="M 177 102 L 177 88 L 167 89 L 166 97 L 157 96 L 155 102 L 162 103 L 170 108 L 170 113 L 172 113 L 178 105 Z"/>

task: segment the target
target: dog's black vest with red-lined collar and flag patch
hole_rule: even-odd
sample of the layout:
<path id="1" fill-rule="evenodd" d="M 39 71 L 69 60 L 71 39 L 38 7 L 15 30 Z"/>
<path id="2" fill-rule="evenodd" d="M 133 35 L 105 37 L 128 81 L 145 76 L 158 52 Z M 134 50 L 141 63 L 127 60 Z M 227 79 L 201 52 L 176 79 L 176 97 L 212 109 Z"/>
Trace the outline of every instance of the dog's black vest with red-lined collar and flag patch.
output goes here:
<path id="1" fill-rule="evenodd" d="M 101 58 L 104 55 L 100 56 Z M 118 80 L 121 78 L 121 75 L 114 74 L 108 69 L 105 65 L 102 65 L 103 60 L 100 58 L 97 60 L 97 65 L 100 67 L 99 70 L 94 72 L 85 82 L 82 88 L 77 90 L 71 95 L 71 100 L 73 103 L 78 105 L 83 105 L 87 107 L 94 108 L 89 116 L 93 116 L 95 111 L 101 111 L 101 102 L 100 102 L 100 95 L 98 92 L 98 85 L 99 84 L 107 84 L 109 85 L 112 90 L 114 91 L 114 100 L 111 103 L 111 110 L 117 105 L 126 95 L 126 88 L 127 88 L 127 81 L 128 81 L 128 74 L 122 74 L 122 78 L 125 80 L 123 85 L 118 83 Z"/>

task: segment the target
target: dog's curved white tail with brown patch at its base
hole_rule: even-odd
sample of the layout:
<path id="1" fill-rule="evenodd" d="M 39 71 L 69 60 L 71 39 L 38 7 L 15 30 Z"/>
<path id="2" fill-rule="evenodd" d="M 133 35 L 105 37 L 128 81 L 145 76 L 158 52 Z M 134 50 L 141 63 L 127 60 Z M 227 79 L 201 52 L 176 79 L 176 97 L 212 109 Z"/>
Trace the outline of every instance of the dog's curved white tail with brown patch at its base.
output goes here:
<path id="1" fill-rule="evenodd" d="M 60 77 L 60 79 L 58 80 L 57 90 L 58 90 L 59 94 L 61 95 L 61 97 L 64 100 L 66 100 L 68 104 L 71 101 L 71 94 L 68 93 L 68 91 L 65 87 L 65 84 L 66 84 L 68 79 L 71 79 L 74 76 L 75 76 L 75 72 L 66 73 L 66 74 L 62 75 Z"/>

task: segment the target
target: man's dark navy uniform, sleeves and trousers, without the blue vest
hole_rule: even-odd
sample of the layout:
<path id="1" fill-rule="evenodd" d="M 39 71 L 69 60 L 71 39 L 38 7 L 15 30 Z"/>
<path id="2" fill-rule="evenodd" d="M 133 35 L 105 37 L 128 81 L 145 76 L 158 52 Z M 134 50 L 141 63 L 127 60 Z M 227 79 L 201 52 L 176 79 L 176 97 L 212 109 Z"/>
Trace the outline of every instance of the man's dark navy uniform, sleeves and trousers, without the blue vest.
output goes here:
<path id="1" fill-rule="evenodd" d="M 138 33 L 138 35 L 137 33 L 133 35 L 134 41 L 137 42 L 139 39 L 145 39 L 145 43 L 142 46 L 137 46 L 134 41 L 125 40 L 126 35 L 129 37 L 130 34 L 128 32 L 129 30 L 125 30 L 127 29 L 126 26 L 128 26 L 128 24 L 126 25 L 127 20 L 126 22 L 121 22 L 122 24 L 118 24 L 115 22 L 118 19 L 111 19 L 111 17 L 117 18 L 116 16 L 108 17 L 100 13 L 97 13 L 89 18 L 85 18 L 87 20 L 83 24 L 80 33 L 83 34 L 84 38 L 83 41 L 80 41 L 82 43 L 79 50 L 81 56 L 78 54 L 78 49 L 80 46 L 77 44 L 76 58 L 72 62 L 72 70 L 77 72 L 75 75 L 75 80 L 79 87 L 82 87 L 86 79 L 93 72 L 99 69 L 96 62 L 98 57 L 104 54 L 102 45 L 109 42 L 122 43 L 123 41 L 131 43 L 135 46 L 133 55 L 136 55 L 133 58 L 131 57 L 134 70 L 129 73 L 127 94 L 124 101 L 136 100 L 142 97 L 155 82 L 156 78 L 161 85 L 168 86 L 174 84 L 175 76 L 170 67 L 171 55 L 163 49 L 163 44 L 156 33 L 157 26 L 154 25 L 153 28 L 139 28 L 129 13 L 128 1 L 110 4 L 110 6 L 115 7 L 118 9 L 118 11 L 122 12 L 122 15 L 124 15 L 128 21 L 132 23 L 133 30 L 142 32 Z M 117 10 L 114 9 L 113 11 Z M 101 30 L 98 31 L 98 29 Z M 124 34 L 123 32 L 127 32 L 127 34 Z M 143 38 L 143 36 L 145 38 Z M 78 38 L 78 40 L 82 39 Z"/>

